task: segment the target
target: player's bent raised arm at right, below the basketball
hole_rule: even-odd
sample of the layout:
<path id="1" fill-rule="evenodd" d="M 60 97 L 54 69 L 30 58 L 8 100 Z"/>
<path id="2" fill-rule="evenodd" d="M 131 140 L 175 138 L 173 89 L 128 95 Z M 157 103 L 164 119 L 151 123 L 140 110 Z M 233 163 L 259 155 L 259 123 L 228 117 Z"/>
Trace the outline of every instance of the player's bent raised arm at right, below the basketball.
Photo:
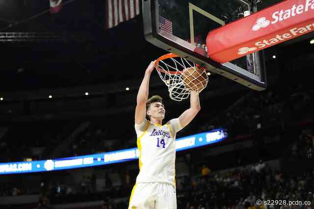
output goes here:
<path id="1" fill-rule="evenodd" d="M 188 125 L 194 117 L 200 112 L 201 105 L 200 105 L 200 98 L 198 93 L 191 92 L 190 94 L 190 108 L 183 112 L 183 114 L 179 117 L 180 124 L 182 128 Z"/>

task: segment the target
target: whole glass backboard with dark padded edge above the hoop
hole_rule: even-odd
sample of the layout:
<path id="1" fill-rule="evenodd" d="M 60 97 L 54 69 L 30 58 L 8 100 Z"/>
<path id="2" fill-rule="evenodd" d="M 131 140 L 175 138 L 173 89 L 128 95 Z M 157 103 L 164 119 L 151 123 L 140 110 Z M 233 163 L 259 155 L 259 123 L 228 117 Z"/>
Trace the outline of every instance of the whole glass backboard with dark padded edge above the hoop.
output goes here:
<path id="1" fill-rule="evenodd" d="M 209 59 L 208 33 L 256 10 L 249 0 L 143 0 L 148 42 L 251 89 L 266 88 L 263 52 L 217 63 Z M 247 14 L 247 12 L 245 12 Z M 209 46 L 210 47 L 210 46 Z"/>

